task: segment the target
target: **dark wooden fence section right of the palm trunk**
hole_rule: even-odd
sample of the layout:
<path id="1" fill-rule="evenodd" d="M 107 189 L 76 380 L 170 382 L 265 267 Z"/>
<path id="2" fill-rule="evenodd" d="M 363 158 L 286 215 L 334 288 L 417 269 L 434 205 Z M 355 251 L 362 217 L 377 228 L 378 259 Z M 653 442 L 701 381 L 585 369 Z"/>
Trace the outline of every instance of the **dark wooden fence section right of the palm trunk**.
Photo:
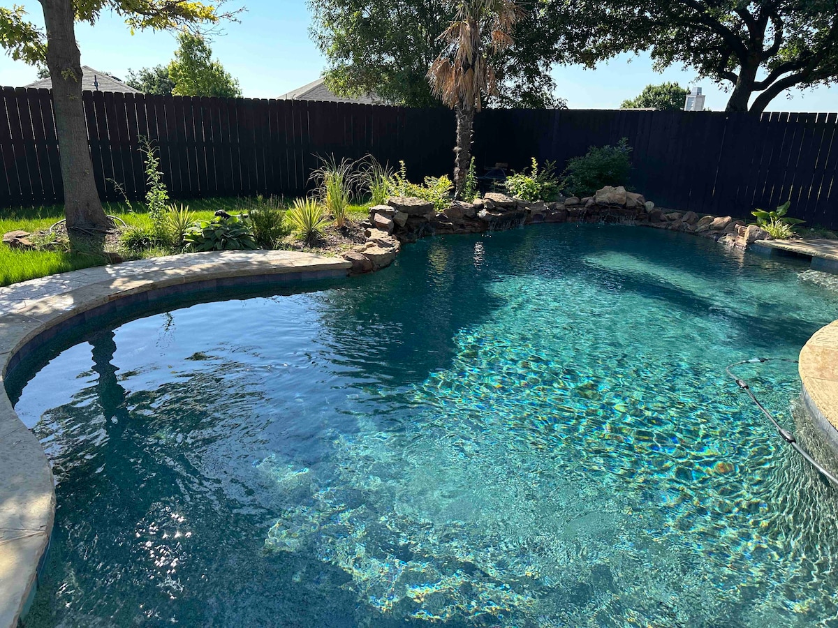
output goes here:
<path id="1" fill-rule="evenodd" d="M 632 147 L 631 184 L 654 203 L 749 216 L 791 200 L 790 215 L 838 229 L 838 114 L 714 111 L 485 111 L 475 122 L 483 162 L 526 167 L 588 147 Z"/>

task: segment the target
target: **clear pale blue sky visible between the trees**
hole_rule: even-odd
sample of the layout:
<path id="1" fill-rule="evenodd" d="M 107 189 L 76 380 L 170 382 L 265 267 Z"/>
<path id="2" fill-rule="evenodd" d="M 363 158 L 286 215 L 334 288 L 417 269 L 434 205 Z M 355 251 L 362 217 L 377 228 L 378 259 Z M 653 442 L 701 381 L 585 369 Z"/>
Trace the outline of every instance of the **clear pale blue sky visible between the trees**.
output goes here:
<path id="1" fill-rule="evenodd" d="M 18 3 L 19 0 L 18 0 Z M 8 2 L 4 2 L 8 4 Z M 230 5 L 234 5 L 232 0 Z M 308 38 L 310 16 L 304 0 L 245 0 L 247 12 L 241 23 L 225 25 L 213 40 L 213 52 L 225 68 L 241 82 L 246 97 L 272 98 L 315 80 L 323 71 L 324 59 Z M 26 0 L 30 18 L 43 23 L 40 4 Z M 95 27 L 76 27 L 81 62 L 125 78 L 127 70 L 166 64 L 175 49 L 170 33 L 131 35 L 119 18 L 106 13 Z M 574 109 L 618 107 L 649 83 L 675 80 L 680 85 L 701 87 L 706 106 L 724 109 L 727 95 L 709 80 L 695 82 L 695 73 L 677 68 L 658 74 L 647 56 L 624 55 L 601 64 L 595 70 L 579 66 L 558 66 L 552 74 L 556 94 Z M 26 85 L 35 80 L 34 68 L 7 56 L 0 56 L 0 85 Z M 780 95 L 768 107 L 771 111 L 838 111 L 838 88 L 790 92 Z"/>

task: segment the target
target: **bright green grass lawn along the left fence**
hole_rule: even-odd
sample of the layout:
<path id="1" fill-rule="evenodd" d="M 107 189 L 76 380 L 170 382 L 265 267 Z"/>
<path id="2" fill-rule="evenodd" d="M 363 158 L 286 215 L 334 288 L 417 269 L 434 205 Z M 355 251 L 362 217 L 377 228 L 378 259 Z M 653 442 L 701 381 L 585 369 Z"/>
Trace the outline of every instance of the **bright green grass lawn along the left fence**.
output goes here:
<path id="1" fill-rule="evenodd" d="M 194 198 L 174 202 L 176 205 L 180 203 L 189 205 L 189 211 L 195 214 L 195 219 L 209 219 L 219 209 L 224 209 L 231 214 L 246 212 L 258 201 L 256 198 Z M 368 208 L 368 204 L 352 205 L 349 208 L 349 216 L 354 220 L 363 220 L 366 218 Z M 146 208 L 142 203 L 131 203 L 130 206 L 127 203 L 105 203 L 105 211 L 129 225 L 147 226 L 150 224 Z M 52 224 L 63 218 L 63 205 L 0 209 L 0 235 L 18 229 L 28 232 L 49 229 Z M 8 246 L 0 245 L 0 286 L 104 263 L 105 260 L 98 255 L 13 250 Z"/>

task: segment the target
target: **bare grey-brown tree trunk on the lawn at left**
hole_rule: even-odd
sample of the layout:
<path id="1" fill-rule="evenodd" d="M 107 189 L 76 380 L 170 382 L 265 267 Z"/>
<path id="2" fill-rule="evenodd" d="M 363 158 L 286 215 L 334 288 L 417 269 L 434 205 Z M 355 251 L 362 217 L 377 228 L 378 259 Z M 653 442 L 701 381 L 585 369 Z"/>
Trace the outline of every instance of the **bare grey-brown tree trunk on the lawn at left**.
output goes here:
<path id="1" fill-rule="evenodd" d="M 55 130 L 61 158 L 61 181 L 71 245 L 78 229 L 111 226 L 96 191 L 81 101 L 81 59 L 75 43 L 75 12 L 71 0 L 40 0 L 47 31 L 47 66 L 52 79 Z"/>

